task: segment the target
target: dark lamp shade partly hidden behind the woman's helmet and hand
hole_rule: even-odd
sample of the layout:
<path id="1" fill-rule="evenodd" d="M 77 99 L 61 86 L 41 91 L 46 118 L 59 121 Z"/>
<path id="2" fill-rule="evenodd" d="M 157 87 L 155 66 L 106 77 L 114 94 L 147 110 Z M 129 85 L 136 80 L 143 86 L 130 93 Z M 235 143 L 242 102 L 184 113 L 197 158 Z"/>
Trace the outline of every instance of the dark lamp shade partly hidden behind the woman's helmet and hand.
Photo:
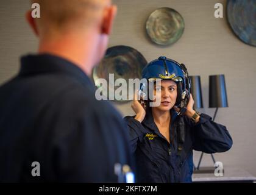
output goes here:
<path id="1" fill-rule="evenodd" d="M 194 99 L 194 108 L 203 108 L 202 88 L 200 76 L 190 76 L 191 79 L 191 94 Z"/>

